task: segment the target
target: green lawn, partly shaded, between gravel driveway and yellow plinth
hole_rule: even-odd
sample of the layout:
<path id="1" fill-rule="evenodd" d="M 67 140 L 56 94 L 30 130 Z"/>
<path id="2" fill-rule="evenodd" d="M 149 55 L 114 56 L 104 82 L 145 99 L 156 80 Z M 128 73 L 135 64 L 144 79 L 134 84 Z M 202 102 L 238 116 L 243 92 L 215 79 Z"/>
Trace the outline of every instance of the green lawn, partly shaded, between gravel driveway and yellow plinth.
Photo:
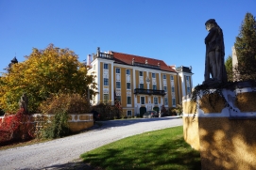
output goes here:
<path id="1" fill-rule="evenodd" d="M 200 154 L 183 140 L 182 126 L 131 136 L 80 156 L 106 170 L 200 170 Z"/>

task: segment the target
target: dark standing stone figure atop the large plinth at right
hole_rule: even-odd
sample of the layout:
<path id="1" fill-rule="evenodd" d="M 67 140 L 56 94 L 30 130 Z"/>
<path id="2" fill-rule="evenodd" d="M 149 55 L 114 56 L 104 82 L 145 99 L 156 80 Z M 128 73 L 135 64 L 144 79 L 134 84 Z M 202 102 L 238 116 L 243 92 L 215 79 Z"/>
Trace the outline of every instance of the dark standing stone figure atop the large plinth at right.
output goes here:
<path id="1" fill-rule="evenodd" d="M 214 85 L 228 82 L 224 64 L 225 47 L 222 29 L 214 19 L 208 20 L 205 25 L 209 34 L 204 39 L 206 54 L 203 84 Z M 210 78 L 210 74 L 212 78 Z"/>

